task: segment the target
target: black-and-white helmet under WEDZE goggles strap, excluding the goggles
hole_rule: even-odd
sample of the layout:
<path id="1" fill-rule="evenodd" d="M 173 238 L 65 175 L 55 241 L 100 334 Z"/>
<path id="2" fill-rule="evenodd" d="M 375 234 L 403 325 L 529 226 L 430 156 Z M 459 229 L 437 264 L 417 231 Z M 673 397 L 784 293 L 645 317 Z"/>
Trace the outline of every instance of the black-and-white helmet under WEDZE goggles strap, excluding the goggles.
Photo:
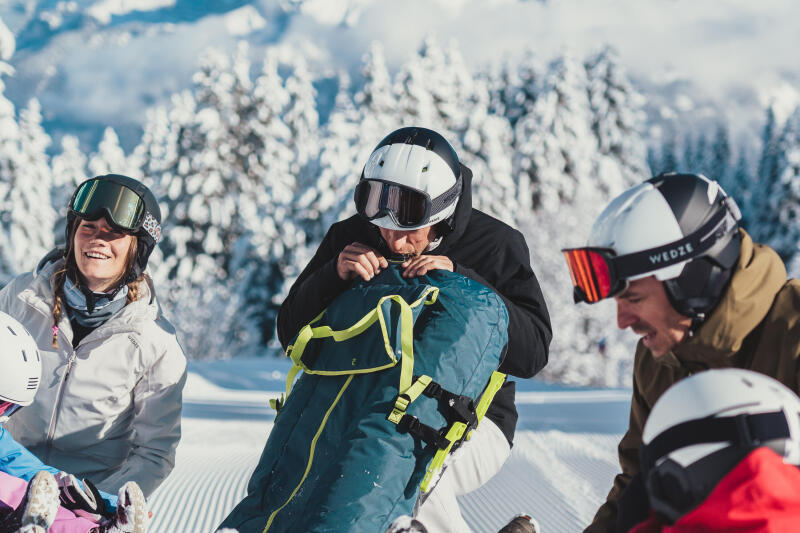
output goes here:
<path id="1" fill-rule="evenodd" d="M 702 320 L 719 302 L 738 261 L 740 219 L 736 202 L 716 181 L 702 174 L 661 174 L 612 200 L 595 221 L 588 246 L 622 256 L 698 237 L 712 243 L 700 251 L 676 246 L 669 250 L 673 257 L 653 256 L 648 268 L 627 278 L 655 276 L 679 313 Z M 698 235 L 709 224 L 714 233 Z"/>

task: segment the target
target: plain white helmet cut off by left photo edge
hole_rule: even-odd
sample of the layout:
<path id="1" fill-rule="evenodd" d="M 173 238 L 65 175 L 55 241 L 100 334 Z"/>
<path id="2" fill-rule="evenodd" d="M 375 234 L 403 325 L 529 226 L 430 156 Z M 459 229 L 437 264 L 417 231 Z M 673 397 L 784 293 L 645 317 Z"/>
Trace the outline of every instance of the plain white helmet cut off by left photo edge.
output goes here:
<path id="1" fill-rule="evenodd" d="M 28 330 L 3 312 L 0 312 L 0 361 L 0 402 L 30 405 L 42 373 L 39 348 Z"/>

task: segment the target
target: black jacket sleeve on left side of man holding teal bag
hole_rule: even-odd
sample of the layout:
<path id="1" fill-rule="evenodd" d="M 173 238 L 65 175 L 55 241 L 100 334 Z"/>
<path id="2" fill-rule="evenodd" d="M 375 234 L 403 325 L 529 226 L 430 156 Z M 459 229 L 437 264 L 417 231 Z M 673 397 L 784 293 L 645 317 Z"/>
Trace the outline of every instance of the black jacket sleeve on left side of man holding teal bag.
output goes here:
<path id="1" fill-rule="evenodd" d="M 336 261 L 344 246 L 336 241 L 334 225 L 317 248 L 317 252 L 289 289 L 278 311 L 278 339 L 284 349 L 300 328 L 311 322 L 339 294 L 350 286 L 336 272 Z"/>

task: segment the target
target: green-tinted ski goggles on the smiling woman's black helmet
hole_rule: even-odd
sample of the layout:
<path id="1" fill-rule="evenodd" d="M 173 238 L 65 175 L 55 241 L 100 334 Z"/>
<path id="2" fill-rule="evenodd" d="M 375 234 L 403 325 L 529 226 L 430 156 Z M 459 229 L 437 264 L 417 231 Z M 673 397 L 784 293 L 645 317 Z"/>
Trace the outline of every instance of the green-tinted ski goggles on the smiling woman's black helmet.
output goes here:
<path id="1" fill-rule="evenodd" d="M 124 233 L 136 233 L 144 228 L 153 239 L 161 240 L 161 224 L 145 209 L 144 199 L 121 183 L 91 179 L 78 188 L 70 209 L 86 220 L 102 216 Z"/>

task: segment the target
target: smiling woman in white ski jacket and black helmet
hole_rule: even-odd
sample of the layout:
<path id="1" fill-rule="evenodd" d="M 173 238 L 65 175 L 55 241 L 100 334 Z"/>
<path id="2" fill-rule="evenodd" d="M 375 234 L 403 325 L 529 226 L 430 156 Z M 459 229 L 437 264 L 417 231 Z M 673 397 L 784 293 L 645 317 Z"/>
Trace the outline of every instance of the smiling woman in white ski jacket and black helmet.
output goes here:
<path id="1" fill-rule="evenodd" d="M 66 251 L 0 291 L 0 311 L 30 331 L 42 357 L 36 401 L 6 429 L 108 492 L 133 480 L 152 493 L 180 439 L 186 358 L 144 273 L 160 221 L 140 182 L 92 178 L 70 202 Z"/>

